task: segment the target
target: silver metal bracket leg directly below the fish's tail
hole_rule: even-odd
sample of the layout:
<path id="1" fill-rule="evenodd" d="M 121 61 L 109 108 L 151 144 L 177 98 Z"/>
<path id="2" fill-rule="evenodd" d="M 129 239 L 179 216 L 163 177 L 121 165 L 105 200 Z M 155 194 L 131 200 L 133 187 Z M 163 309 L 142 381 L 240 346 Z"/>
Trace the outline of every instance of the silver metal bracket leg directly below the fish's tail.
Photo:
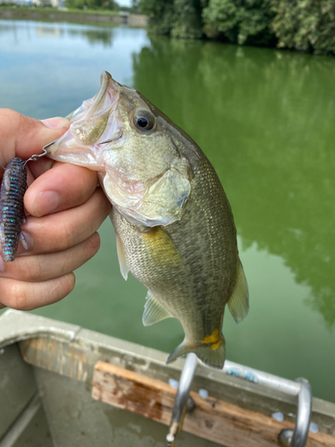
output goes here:
<path id="1" fill-rule="evenodd" d="M 194 408 L 193 400 L 188 397 L 193 377 L 197 369 L 197 356 L 194 353 L 188 354 L 184 367 L 180 375 L 180 383 L 174 400 L 172 419 L 169 434 L 166 436 L 167 447 L 174 447 L 176 434 L 180 433 L 184 422 L 185 412 Z M 191 400 L 191 401 L 189 401 Z"/>

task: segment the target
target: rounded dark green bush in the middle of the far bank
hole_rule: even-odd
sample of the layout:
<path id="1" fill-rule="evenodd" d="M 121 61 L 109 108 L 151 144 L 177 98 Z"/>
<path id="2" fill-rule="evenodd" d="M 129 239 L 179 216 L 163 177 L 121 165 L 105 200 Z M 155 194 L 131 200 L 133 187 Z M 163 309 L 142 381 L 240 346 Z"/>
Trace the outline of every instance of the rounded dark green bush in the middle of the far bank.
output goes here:
<path id="1" fill-rule="evenodd" d="M 204 8 L 205 34 L 239 45 L 272 46 L 271 0 L 209 0 Z"/>

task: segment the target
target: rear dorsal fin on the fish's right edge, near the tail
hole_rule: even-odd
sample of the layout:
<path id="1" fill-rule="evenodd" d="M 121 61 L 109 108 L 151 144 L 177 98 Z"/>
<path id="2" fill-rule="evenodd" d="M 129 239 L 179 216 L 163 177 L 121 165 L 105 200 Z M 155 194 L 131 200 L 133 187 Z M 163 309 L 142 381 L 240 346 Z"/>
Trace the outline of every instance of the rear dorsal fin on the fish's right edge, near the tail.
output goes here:
<path id="1" fill-rule="evenodd" d="M 249 310 L 247 279 L 240 260 L 238 261 L 235 289 L 228 301 L 228 308 L 230 309 L 230 314 L 233 316 L 236 323 L 240 323 L 247 316 L 247 312 Z"/>

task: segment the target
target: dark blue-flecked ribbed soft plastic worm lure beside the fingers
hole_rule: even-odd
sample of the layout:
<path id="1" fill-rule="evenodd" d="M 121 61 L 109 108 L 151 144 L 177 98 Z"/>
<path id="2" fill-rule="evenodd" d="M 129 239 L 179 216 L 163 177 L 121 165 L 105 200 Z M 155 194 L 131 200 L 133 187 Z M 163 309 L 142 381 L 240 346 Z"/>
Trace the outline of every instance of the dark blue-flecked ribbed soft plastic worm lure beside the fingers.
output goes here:
<path id="1" fill-rule="evenodd" d="M 0 192 L 0 240 L 5 262 L 11 262 L 16 257 L 21 223 L 25 219 L 23 196 L 26 190 L 26 162 L 15 157 L 4 170 Z M 24 238 L 21 240 L 26 246 Z"/>

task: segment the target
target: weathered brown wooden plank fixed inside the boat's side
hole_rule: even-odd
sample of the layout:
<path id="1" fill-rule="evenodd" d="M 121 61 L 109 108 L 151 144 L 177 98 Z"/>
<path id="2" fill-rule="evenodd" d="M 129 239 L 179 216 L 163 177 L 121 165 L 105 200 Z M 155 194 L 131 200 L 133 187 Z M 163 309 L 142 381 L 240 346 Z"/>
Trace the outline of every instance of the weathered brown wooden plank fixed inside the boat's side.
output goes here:
<path id="1" fill-rule="evenodd" d="M 176 390 L 169 384 L 97 362 L 93 374 L 92 397 L 114 407 L 127 409 L 169 425 Z M 293 427 L 213 397 L 201 398 L 190 392 L 196 408 L 187 414 L 183 430 L 227 447 L 273 447 L 282 428 Z M 306 447 L 335 447 L 330 434 L 309 433 Z"/>

